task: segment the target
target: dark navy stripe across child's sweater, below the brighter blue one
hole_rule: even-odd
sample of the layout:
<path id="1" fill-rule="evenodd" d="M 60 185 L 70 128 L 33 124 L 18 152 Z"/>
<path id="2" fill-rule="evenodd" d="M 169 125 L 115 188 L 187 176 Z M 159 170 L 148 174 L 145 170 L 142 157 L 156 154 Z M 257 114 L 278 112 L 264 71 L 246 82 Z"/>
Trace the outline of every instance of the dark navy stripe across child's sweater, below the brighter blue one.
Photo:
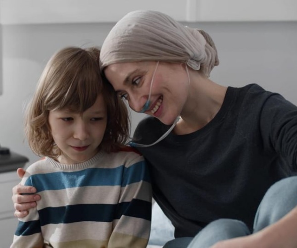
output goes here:
<path id="1" fill-rule="evenodd" d="M 133 199 L 119 204 L 77 204 L 47 207 L 38 211 L 40 224 L 74 223 L 80 221 L 111 222 L 122 215 L 150 220 L 151 203 Z"/>

